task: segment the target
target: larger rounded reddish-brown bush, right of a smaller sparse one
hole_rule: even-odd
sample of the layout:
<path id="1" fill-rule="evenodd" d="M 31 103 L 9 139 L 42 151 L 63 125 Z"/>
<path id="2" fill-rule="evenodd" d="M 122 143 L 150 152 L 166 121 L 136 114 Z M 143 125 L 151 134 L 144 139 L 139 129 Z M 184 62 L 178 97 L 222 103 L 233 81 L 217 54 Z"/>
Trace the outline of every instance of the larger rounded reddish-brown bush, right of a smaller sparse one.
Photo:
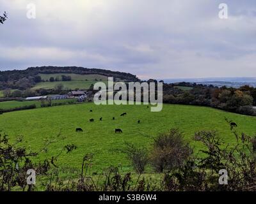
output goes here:
<path id="1" fill-rule="evenodd" d="M 182 133 L 178 129 L 170 129 L 169 133 L 154 139 L 151 152 L 152 166 L 157 172 L 173 170 L 182 166 L 191 153 L 192 150 Z"/>

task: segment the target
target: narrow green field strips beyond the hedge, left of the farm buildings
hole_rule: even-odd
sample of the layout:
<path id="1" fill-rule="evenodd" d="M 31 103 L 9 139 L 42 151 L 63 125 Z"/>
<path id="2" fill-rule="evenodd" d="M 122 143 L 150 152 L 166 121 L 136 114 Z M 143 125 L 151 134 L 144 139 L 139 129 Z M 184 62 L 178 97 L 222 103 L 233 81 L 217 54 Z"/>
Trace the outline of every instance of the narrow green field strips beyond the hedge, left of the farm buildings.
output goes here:
<path id="1" fill-rule="evenodd" d="M 52 100 L 52 103 L 63 103 L 67 101 L 76 101 L 76 99 Z M 0 109 L 17 108 L 17 107 L 28 106 L 33 104 L 36 105 L 36 108 L 41 107 L 41 101 L 4 101 L 4 102 L 0 102 Z"/>

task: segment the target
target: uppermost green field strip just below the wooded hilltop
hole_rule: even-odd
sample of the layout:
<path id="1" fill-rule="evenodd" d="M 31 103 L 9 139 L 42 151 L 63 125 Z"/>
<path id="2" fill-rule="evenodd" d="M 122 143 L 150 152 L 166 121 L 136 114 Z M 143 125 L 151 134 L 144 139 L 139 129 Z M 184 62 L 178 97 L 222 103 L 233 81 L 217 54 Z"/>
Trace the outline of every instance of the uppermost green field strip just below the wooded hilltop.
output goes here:
<path id="1" fill-rule="evenodd" d="M 61 75 L 70 76 L 73 81 L 93 81 L 97 80 L 108 80 L 108 77 L 103 75 L 77 75 L 72 73 L 56 73 L 56 74 L 38 74 L 42 78 L 42 80 L 49 80 L 51 77 L 59 77 L 61 80 Z"/>

